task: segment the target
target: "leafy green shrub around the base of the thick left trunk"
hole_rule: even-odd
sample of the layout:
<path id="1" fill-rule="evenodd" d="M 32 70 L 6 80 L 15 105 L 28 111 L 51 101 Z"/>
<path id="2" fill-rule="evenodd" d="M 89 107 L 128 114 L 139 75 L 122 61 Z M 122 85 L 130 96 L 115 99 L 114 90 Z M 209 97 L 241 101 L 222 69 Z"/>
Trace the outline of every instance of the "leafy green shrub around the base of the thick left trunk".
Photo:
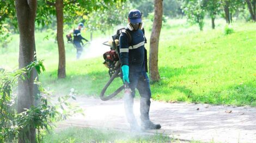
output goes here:
<path id="1" fill-rule="evenodd" d="M 41 142 L 41 130 L 52 128 L 53 121 L 66 119 L 74 113 L 82 112 L 77 106 L 72 106 L 68 99 L 75 99 L 74 92 L 70 95 L 60 97 L 56 104 L 50 102 L 51 94 L 47 92 L 41 83 L 35 80 L 35 84 L 40 89 L 40 94 L 35 97 L 41 101 L 38 106 L 26 109 L 25 112 L 17 114 L 16 111 L 16 94 L 13 89 L 16 87 L 18 79 L 25 79 L 36 69 L 38 74 L 45 68 L 42 61 L 34 61 L 27 67 L 16 70 L 14 73 L 1 70 L 0 73 L 0 142 L 16 141 L 18 134 L 23 131 L 29 131 L 36 128 L 38 133 L 38 142 Z"/>

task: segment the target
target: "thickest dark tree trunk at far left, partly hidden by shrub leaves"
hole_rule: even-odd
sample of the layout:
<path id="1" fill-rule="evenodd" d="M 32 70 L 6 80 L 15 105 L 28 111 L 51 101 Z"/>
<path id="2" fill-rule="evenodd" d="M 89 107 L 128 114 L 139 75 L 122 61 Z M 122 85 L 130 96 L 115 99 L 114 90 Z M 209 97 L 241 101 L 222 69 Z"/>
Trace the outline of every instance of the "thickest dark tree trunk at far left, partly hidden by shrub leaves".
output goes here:
<path id="1" fill-rule="evenodd" d="M 34 61 L 36 0 L 16 0 L 16 14 L 20 30 L 19 68 Z M 34 73 L 18 82 L 18 113 L 34 106 Z M 35 142 L 35 128 L 21 130 L 19 142 Z"/>

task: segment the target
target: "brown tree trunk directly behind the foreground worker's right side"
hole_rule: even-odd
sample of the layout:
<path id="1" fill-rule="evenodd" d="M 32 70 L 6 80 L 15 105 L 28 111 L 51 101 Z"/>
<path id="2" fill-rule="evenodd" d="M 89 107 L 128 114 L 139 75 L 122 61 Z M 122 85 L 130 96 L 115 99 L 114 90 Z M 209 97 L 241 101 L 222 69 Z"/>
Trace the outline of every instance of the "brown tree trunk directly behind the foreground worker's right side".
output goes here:
<path id="1" fill-rule="evenodd" d="M 159 49 L 159 37 L 162 28 L 162 16 L 163 16 L 163 1 L 154 0 L 155 16 L 153 22 L 153 28 L 150 37 L 150 53 L 149 53 L 149 74 L 151 81 L 159 81 L 159 69 L 158 69 L 158 49 Z"/>

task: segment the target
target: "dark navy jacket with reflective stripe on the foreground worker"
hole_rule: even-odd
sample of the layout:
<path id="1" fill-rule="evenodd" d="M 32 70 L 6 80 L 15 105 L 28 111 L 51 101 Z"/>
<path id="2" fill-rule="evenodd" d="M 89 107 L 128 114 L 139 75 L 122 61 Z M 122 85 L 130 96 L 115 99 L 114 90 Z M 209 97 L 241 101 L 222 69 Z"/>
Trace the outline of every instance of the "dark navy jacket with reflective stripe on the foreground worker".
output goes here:
<path id="1" fill-rule="evenodd" d="M 125 33 L 121 33 L 119 37 L 121 66 L 129 66 L 132 72 L 143 72 L 145 71 L 145 37 L 143 31 L 141 29 L 136 31 L 129 30 L 129 33 L 132 37 L 130 45 Z"/>

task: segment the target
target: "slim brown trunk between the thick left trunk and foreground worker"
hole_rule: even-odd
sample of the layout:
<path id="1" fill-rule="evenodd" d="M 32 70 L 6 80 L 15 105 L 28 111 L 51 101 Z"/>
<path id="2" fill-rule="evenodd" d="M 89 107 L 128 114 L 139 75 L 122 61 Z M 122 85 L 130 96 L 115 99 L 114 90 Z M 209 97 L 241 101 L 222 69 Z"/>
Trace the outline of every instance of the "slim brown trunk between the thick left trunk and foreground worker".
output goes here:
<path id="1" fill-rule="evenodd" d="M 66 77 L 66 57 L 63 39 L 63 0 L 56 0 L 55 6 L 57 16 L 57 42 L 59 49 L 58 78 L 63 79 Z"/>

